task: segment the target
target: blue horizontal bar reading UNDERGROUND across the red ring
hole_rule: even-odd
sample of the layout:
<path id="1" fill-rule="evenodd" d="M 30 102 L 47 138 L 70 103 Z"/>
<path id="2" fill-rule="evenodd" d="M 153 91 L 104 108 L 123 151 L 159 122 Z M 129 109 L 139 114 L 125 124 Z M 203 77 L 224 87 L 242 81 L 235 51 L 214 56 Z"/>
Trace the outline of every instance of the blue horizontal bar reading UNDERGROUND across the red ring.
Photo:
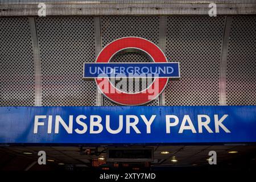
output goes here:
<path id="1" fill-rule="evenodd" d="M 179 78 L 179 63 L 84 63 L 84 78 Z"/>

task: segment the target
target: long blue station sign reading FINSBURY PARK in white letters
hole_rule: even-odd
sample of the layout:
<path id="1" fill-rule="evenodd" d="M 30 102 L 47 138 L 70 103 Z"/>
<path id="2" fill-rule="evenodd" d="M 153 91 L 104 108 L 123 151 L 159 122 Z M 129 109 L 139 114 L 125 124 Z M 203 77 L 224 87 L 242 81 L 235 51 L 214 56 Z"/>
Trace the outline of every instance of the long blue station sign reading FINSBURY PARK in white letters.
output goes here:
<path id="1" fill-rule="evenodd" d="M 256 142 L 256 106 L 0 107 L 0 143 Z"/>

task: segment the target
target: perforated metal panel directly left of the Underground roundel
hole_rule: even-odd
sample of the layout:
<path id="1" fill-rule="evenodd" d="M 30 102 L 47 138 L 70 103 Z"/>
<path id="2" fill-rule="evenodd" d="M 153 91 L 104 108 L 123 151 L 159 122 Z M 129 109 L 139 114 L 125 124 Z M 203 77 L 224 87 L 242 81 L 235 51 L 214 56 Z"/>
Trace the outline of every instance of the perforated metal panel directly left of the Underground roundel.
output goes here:
<path id="1" fill-rule="evenodd" d="M 44 106 L 95 105 L 96 84 L 82 80 L 85 62 L 94 62 L 92 17 L 36 18 Z"/>

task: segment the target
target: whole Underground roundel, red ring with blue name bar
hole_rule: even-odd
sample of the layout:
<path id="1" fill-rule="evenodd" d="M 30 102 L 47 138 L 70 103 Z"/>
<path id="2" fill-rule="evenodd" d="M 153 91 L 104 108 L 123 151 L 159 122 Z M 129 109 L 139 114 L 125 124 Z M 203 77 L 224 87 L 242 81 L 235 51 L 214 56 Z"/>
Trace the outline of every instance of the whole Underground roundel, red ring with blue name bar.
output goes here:
<path id="1" fill-rule="evenodd" d="M 138 49 L 151 57 L 152 63 L 110 63 L 114 55 L 125 49 Z M 168 63 L 163 51 L 149 40 L 125 37 L 114 40 L 102 49 L 96 63 L 84 64 L 84 78 L 95 78 L 102 94 L 120 105 L 142 105 L 157 98 L 167 85 L 168 78 L 179 77 L 179 63 Z M 116 88 L 109 79 L 154 77 L 140 92 L 127 93 Z M 143 80 L 143 79 L 142 79 Z"/>

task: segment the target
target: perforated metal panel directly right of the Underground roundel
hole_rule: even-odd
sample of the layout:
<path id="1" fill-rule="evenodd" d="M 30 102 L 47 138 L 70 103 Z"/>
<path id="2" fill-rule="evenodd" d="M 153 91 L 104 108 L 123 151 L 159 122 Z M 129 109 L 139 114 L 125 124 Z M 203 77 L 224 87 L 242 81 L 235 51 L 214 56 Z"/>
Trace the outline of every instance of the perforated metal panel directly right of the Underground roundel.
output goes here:
<path id="1" fill-rule="evenodd" d="M 166 105 L 218 105 L 224 28 L 224 16 L 168 17 L 166 55 L 181 77 L 168 82 Z"/>

